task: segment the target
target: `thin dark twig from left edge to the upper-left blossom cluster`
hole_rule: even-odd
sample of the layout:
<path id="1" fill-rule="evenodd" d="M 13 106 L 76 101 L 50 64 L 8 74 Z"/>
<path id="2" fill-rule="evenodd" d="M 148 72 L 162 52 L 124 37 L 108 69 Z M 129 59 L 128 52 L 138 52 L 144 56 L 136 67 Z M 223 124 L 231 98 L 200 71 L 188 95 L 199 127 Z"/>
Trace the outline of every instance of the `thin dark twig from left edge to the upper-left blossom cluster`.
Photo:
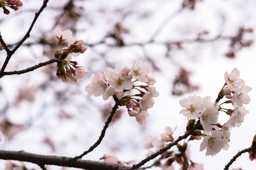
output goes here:
<path id="1" fill-rule="evenodd" d="M 28 67 L 27 69 L 23 69 L 23 70 L 18 70 L 18 71 L 6 71 L 6 72 L 3 72 L 3 74 L 0 74 L 0 78 L 2 76 L 5 76 L 5 75 L 14 75 L 14 74 L 24 74 L 24 73 L 28 73 L 30 71 L 33 71 L 35 69 L 38 69 L 40 67 L 43 67 L 43 66 L 46 66 L 46 65 L 49 65 L 53 62 L 58 62 L 57 59 L 53 58 L 53 59 L 50 59 L 49 61 L 46 61 L 46 62 L 41 62 L 39 63 L 38 65 L 35 65 L 35 66 L 32 66 L 32 67 Z"/>

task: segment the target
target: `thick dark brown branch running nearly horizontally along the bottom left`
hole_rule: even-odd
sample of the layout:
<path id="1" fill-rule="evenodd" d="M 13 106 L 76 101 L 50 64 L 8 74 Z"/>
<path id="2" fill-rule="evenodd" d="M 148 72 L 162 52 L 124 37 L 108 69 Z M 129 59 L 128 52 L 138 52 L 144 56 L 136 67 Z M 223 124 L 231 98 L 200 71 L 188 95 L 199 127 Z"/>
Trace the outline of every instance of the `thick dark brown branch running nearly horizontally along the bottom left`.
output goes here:
<path id="1" fill-rule="evenodd" d="M 0 159 L 3 160 L 19 160 L 38 164 L 40 167 L 43 165 L 57 165 L 61 167 L 82 168 L 86 170 L 125 170 L 130 167 L 125 167 L 119 164 L 110 164 L 105 162 L 96 162 L 92 160 L 76 160 L 69 161 L 70 158 L 64 156 L 49 156 L 31 154 L 24 151 L 4 151 L 0 150 Z M 139 170 L 139 169 L 138 169 Z M 142 170 L 142 169 L 140 169 Z"/>

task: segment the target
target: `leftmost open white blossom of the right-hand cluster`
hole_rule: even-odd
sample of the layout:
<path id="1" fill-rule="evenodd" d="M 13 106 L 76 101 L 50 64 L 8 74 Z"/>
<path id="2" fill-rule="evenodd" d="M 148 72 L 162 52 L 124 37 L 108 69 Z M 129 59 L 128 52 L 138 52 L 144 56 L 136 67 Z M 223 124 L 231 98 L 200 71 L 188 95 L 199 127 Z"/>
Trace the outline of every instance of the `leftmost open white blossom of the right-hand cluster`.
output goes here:
<path id="1" fill-rule="evenodd" d="M 206 109 L 206 101 L 202 100 L 200 96 L 189 96 L 187 99 L 180 100 L 181 107 L 185 108 L 180 111 L 184 116 L 188 116 L 191 119 L 198 118 L 200 113 Z"/>

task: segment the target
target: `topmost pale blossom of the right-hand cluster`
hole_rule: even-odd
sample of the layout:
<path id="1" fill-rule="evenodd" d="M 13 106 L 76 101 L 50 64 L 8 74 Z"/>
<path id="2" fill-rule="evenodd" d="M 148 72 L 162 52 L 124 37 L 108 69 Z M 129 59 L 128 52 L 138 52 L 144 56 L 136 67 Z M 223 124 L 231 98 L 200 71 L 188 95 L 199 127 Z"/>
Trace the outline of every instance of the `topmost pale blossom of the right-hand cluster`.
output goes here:
<path id="1" fill-rule="evenodd" d="M 231 73 L 225 73 L 225 81 L 228 84 L 229 88 L 232 91 L 237 91 L 239 87 L 242 87 L 245 84 L 245 81 L 239 78 L 240 71 L 237 68 L 234 68 Z"/>

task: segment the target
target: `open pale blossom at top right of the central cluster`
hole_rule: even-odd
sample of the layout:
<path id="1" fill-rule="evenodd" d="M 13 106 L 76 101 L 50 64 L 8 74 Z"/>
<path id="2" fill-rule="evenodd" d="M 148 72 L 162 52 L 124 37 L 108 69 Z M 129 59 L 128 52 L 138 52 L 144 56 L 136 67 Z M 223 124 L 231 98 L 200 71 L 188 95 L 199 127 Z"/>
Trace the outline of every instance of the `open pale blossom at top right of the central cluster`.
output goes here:
<path id="1" fill-rule="evenodd" d="M 140 82 L 148 82 L 146 75 L 150 72 L 150 66 L 143 65 L 141 59 L 136 59 L 133 67 L 131 67 L 131 75 Z"/>

